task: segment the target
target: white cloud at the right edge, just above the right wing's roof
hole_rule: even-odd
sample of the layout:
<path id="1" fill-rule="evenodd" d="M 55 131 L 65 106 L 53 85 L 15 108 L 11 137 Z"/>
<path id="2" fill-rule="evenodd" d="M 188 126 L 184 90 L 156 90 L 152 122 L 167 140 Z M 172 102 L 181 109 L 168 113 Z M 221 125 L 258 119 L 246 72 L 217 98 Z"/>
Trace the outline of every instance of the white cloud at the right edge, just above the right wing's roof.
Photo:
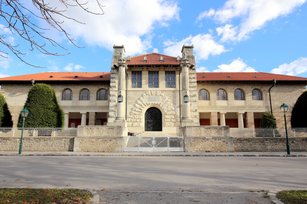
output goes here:
<path id="1" fill-rule="evenodd" d="M 298 74 L 307 72 L 307 57 L 300 57 L 297 60 L 290 62 L 290 64 L 279 65 L 278 68 L 272 69 L 273 74 L 285 74 L 297 76 Z"/>

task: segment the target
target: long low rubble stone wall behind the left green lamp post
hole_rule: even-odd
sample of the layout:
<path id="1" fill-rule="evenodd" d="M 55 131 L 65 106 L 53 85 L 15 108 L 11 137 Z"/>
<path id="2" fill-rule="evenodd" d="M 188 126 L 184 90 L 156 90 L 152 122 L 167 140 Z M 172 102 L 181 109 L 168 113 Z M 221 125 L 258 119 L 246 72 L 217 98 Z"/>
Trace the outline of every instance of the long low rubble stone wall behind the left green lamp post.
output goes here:
<path id="1" fill-rule="evenodd" d="M 0 137 L 0 151 L 18 151 L 20 137 Z M 24 137 L 22 151 L 73 151 L 74 137 Z"/>

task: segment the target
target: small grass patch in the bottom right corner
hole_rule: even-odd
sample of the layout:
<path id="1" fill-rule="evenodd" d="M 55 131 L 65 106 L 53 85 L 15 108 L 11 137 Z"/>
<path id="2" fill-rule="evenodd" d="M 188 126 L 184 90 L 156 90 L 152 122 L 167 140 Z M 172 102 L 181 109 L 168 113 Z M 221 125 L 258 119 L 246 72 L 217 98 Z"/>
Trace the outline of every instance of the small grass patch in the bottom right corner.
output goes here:
<path id="1" fill-rule="evenodd" d="M 307 190 L 279 191 L 276 198 L 285 204 L 307 204 Z"/>

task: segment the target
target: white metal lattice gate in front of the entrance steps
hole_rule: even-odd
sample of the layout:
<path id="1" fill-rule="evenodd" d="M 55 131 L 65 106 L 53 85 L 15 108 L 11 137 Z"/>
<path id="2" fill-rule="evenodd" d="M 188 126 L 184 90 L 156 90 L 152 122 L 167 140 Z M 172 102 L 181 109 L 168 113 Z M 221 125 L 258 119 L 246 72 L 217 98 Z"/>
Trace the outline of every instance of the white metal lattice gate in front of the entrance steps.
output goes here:
<path id="1" fill-rule="evenodd" d="M 124 137 L 125 152 L 183 152 L 183 137 Z"/>

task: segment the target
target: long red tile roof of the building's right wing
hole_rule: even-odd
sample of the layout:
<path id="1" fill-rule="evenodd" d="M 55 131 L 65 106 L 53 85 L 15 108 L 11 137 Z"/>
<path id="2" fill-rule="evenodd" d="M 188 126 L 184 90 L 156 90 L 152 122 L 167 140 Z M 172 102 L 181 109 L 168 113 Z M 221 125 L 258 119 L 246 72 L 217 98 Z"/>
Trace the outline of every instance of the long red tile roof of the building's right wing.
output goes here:
<path id="1" fill-rule="evenodd" d="M 197 81 L 272 81 L 275 79 L 276 81 L 307 82 L 307 78 L 304 77 L 265 72 L 197 72 L 196 76 Z"/>

